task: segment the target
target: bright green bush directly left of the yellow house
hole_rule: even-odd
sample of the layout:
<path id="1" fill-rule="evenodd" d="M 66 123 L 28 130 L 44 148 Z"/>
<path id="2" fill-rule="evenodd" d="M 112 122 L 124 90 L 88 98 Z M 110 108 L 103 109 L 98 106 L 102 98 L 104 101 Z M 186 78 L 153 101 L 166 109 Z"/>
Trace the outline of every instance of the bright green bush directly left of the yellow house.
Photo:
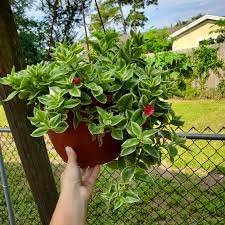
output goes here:
<path id="1" fill-rule="evenodd" d="M 158 30 L 153 29 L 144 34 L 146 52 L 163 52 L 172 50 L 172 40 L 169 39 L 169 30 L 167 28 Z"/>

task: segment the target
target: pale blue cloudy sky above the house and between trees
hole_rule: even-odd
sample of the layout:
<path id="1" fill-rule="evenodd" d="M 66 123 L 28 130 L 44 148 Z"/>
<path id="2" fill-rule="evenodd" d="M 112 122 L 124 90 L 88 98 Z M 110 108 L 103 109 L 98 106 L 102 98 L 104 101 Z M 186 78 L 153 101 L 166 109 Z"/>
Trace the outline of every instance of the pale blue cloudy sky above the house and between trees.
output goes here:
<path id="1" fill-rule="evenodd" d="M 39 0 L 36 0 L 37 4 Z M 125 15 L 129 7 L 124 8 Z M 162 28 L 171 26 L 179 20 L 186 20 L 197 14 L 211 14 L 225 16 L 225 0 L 159 0 L 158 6 L 145 8 L 145 15 L 148 17 L 144 30 L 152 27 Z M 41 19 L 41 12 L 36 9 L 27 12 L 28 16 Z"/>

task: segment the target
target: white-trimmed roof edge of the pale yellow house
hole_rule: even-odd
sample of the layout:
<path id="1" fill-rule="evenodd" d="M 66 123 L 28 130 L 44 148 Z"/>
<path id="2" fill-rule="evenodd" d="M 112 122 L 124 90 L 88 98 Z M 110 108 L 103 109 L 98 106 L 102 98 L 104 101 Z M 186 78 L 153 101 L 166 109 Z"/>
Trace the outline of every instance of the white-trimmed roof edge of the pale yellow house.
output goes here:
<path id="1" fill-rule="evenodd" d="M 206 20 L 214 20 L 214 21 L 218 21 L 218 20 L 221 20 L 221 19 L 225 19 L 225 17 L 222 17 L 222 16 L 213 16 L 213 15 L 205 15 L 205 16 L 202 16 L 200 17 L 199 19 L 195 20 L 194 22 L 186 25 L 185 27 L 182 27 L 181 29 L 175 31 L 174 33 L 172 33 L 170 35 L 171 38 L 175 38 L 177 37 L 178 35 L 188 31 L 189 29 L 191 29 L 192 27 L 195 27 L 197 26 L 198 24 L 206 21 Z"/>

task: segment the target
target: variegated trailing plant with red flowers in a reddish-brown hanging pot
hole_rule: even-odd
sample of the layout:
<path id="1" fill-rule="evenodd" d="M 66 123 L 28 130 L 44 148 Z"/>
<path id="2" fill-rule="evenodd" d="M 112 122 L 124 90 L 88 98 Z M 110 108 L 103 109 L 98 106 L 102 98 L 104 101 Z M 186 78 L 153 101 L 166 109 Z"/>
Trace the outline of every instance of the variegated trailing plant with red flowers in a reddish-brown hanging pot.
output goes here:
<path id="1" fill-rule="evenodd" d="M 177 83 L 147 63 L 140 34 L 131 32 L 120 43 L 109 32 L 90 44 L 91 62 L 79 44 L 58 43 L 51 62 L 13 69 L 0 82 L 14 89 L 6 100 L 18 95 L 33 105 L 31 135 L 48 134 L 65 161 L 66 146 L 83 167 L 115 159 L 109 166 L 121 169 L 123 188 L 111 186 L 105 196 L 118 208 L 138 200 L 124 185 L 132 178 L 148 182 L 147 170 L 161 162 L 164 150 L 173 161 L 176 146 L 185 147 L 175 133 L 183 121 L 167 102 L 178 93 Z"/>

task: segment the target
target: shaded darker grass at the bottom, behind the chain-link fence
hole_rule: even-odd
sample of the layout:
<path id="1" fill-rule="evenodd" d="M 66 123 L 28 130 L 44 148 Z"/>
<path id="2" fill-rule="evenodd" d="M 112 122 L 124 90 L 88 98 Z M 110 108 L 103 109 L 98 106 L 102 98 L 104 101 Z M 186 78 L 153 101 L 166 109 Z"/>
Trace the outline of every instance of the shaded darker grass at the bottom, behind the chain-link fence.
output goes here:
<path id="1" fill-rule="evenodd" d="M 8 162 L 5 165 L 16 224 L 40 224 L 37 207 L 21 164 Z M 63 170 L 63 165 L 61 163 L 52 164 L 52 169 L 59 187 L 59 175 Z M 147 185 L 134 182 L 131 184 L 131 188 L 139 192 L 142 201 L 113 211 L 111 208 L 107 209 L 101 194 L 118 177 L 118 174 L 103 167 L 89 206 L 88 224 L 224 224 L 225 183 L 223 180 L 210 186 L 204 185 L 206 177 L 185 174 L 181 171 L 170 173 L 171 177 L 165 176 L 163 171 L 159 173 L 159 169 L 157 169 L 151 172 L 154 183 Z M 0 224 L 9 224 L 2 190 L 0 192 Z"/>

